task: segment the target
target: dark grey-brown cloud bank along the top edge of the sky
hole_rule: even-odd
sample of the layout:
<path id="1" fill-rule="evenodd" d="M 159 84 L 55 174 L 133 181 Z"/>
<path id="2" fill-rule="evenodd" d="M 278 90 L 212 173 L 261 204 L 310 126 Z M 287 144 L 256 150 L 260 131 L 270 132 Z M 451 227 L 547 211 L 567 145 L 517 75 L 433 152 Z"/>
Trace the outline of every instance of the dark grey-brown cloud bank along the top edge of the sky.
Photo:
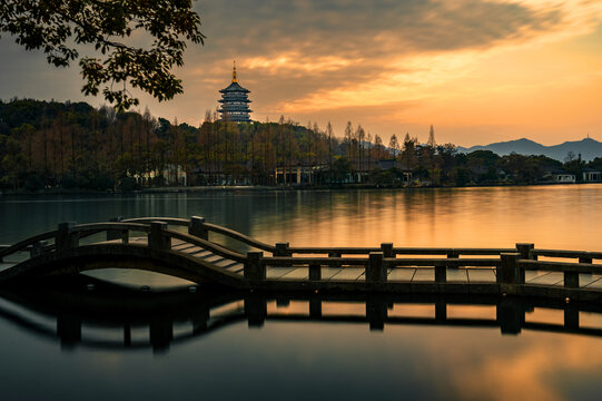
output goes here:
<path id="1" fill-rule="evenodd" d="M 208 41 L 216 49 L 250 57 L 294 51 L 305 57 L 368 58 L 393 51 L 486 48 L 547 31 L 561 25 L 564 14 L 560 7 L 533 9 L 480 0 L 220 0 L 205 4 Z"/>

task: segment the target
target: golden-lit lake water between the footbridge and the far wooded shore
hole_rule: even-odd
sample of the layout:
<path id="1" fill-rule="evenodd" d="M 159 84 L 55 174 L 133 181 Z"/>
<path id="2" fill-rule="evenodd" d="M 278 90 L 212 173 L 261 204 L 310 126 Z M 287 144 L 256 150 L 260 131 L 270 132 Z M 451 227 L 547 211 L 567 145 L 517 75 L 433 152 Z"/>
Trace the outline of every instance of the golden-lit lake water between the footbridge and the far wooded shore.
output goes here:
<path id="1" fill-rule="evenodd" d="M 599 251 L 601 185 L 416 190 L 224 192 L 0 198 L 0 243 L 66 221 L 199 215 L 293 246 L 509 247 Z"/>

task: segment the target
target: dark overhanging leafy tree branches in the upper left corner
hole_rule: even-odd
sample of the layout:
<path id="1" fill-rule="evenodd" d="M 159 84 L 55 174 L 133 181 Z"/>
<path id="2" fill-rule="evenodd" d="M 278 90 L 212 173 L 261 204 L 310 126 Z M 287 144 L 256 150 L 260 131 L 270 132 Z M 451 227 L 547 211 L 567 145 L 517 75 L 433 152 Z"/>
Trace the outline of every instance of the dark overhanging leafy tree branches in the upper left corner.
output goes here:
<path id="1" fill-rule="evenodd" d="M 203 43 L 200 17 L 190 0 L 6 0 L 0 31 L 28 50 L 42 50 L 49 63 L 68 67 L 79 59 L 82 91 L 125 110 L 139 104 L 127 85 L 159 101 L 182 91 L 171 69 L 184 65 L 186 41 Z M 150 45 L 135 46 L 145 33 Z M 80 57 L 80 49 L 95 50 Z"/>

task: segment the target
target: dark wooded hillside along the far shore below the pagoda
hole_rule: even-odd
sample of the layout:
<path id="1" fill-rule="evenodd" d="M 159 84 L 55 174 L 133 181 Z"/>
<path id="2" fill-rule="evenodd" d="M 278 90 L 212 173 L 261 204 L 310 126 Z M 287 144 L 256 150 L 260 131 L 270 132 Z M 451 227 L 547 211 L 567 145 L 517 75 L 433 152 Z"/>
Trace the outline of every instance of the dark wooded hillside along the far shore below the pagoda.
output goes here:
<path id="1" fill-rule="evenodd" d="M 312 172 L 307 186 L 466 186 L 537 184 L 566 170 L 581 180 L 602 158 L 564 163 L 545 156 L 458 153 L 452 144 L 420 144 L 406 133 L 385 145 L 361 125 L 337 136 L 328 123 L 220 121 L 155 118 L 148 110 L 117 113 L 86 102 L 0 101 L 0 188 L 135 190 L 164 186 L 296 185 L 297 166 Z M 399 136 L 401 138 L 401 136 Z M 284 172 L 277 175 L 276 170 Z M 184 178 L 186 177 L 186 178 Z"/>

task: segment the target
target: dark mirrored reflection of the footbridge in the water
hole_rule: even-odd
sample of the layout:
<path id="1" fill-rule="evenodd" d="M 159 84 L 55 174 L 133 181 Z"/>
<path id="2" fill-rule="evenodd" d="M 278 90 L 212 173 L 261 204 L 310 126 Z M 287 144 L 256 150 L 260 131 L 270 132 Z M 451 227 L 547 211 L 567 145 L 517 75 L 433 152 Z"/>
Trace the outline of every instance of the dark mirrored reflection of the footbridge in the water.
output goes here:
<path id="1" fill-rule="evenodd" d="M 274 322 L 312 322 L 365 324 L 373 331 L 388 325 L 431 325 L 499 327 L 502 334 L 532 330 L 602 336 L 602 326 L 580 325 L 583 312 L 599 314 L 602 321 L 602 305 L 545 299 L 257 293 L 215 286 L 148 292 L 82 276 L 68 282 L 61 278 L 2 288 L 0 296 L 1 319 L 58 341 L 63 350 L 82 346 L 165 352 L 171 345 L 244 322 L 249 327 Z M 468 310 L 485 306 L 491 313 L 470 316 L 450 313 L 458 306 Z M 525 319 L 535 309 L 557 311 L 564 317 L 555 322 Z M 431 312 L 415 313 L 424 310 Z"/>

